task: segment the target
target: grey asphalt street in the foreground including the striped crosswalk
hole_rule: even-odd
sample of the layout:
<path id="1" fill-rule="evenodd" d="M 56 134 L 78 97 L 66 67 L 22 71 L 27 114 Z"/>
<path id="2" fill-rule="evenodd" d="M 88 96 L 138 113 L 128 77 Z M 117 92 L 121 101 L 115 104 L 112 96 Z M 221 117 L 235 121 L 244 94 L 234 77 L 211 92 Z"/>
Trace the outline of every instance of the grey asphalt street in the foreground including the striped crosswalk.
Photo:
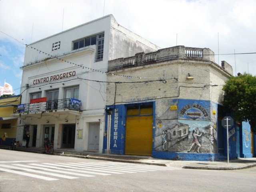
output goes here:
<path id="1" fill-rule="evenodd" d="M 0 192 L 253 192 L 255 176 L 255 167 L 192 170 L 0 150 Z"/>

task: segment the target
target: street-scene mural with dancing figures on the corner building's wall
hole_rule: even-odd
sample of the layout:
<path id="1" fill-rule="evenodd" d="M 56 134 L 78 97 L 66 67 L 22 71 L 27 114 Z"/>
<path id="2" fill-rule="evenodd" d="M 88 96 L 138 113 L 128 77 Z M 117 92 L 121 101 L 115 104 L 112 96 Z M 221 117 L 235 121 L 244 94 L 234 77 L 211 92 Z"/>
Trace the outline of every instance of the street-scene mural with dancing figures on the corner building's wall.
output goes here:
<path id="1" fill-rule="evenodd" d="M 182 100 L 184 105 L 180 108 L 175 107 L 178 100 L 165 103 L 168 109 L 156 120 L 156 151 L 217 152 L 216 122 L 210 121 L 210 102 Z"/>

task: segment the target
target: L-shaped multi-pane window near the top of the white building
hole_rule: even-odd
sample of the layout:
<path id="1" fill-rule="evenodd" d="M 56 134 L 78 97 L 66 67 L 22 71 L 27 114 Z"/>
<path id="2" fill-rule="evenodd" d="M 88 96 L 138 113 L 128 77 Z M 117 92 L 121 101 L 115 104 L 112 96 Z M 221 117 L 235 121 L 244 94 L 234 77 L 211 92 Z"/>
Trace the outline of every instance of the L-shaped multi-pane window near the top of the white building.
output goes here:
<path id="1" fill-rule="evenodd" d="M 96 61 L 101 61 L 103 59 L 104 50 L 104 33 L 74 41 L 73 50 L 90 45 L 97 46 Z"/>

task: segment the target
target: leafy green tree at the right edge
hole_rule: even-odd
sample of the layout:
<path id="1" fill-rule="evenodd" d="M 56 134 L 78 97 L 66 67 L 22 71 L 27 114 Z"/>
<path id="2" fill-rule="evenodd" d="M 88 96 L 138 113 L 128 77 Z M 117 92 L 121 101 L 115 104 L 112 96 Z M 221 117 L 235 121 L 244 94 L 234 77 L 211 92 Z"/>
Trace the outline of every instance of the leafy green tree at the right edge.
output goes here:
<path id="1" fill-rule="evenodd" d="M 234 112 L 236 121 L 249 122 L 256 133 L 256 76 L 245 73 L 231 77 L 222 90 L 223 106 Z"/>

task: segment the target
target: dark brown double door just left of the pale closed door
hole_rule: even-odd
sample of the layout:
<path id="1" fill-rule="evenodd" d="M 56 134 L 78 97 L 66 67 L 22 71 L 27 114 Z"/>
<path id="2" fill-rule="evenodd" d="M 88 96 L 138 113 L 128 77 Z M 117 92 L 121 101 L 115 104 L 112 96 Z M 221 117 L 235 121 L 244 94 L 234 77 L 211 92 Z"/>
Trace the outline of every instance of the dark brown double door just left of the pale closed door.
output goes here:
<path id="1" fill-rule="evenodd" d="M 66 124 L 62 127 L 62 148 L 75 147 L 76 124 Z"/>

